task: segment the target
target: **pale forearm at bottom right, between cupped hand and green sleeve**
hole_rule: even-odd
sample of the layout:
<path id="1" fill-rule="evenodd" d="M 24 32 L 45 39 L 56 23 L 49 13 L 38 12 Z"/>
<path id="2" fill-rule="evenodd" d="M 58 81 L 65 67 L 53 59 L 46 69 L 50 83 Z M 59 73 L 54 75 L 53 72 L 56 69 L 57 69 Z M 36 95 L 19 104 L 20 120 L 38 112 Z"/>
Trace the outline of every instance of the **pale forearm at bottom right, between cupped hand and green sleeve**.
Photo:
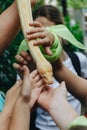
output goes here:
<path id="1" fill-rule="evenodd" d="M 69 124 L 79 115 L 66 100 L 60 100 L 50 109 L 50 115 L 61 130 L 66 130 Z"/>

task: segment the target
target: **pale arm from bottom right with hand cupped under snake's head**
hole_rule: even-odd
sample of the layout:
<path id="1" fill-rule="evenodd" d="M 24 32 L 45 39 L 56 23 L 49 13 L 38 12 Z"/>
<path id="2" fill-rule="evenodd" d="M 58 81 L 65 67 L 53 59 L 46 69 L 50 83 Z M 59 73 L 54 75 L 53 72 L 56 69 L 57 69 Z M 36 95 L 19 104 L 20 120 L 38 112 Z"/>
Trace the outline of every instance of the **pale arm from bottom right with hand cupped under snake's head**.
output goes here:
<path id="1" fill-rule="evenodd" d="M 57 88 L 48 87 L 39 96 L 39 105 L 52 116 L 61 130 L 66 130 L 68 125 L 79 115 L 67 101 L 67 91 L 64 83 Z"/>

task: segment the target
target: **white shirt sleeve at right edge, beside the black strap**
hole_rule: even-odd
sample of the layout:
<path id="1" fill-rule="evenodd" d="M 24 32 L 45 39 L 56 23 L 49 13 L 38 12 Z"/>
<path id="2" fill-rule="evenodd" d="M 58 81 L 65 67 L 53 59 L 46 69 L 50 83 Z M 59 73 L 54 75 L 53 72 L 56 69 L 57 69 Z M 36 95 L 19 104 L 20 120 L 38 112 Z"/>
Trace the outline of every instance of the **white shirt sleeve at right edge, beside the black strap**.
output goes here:
<path id="1" fill-rule="evenodd" d="M 81 77 L 87 78 L 87 57 L 81 52 L 75 52 L 79 58 L 81 66 Z"/>

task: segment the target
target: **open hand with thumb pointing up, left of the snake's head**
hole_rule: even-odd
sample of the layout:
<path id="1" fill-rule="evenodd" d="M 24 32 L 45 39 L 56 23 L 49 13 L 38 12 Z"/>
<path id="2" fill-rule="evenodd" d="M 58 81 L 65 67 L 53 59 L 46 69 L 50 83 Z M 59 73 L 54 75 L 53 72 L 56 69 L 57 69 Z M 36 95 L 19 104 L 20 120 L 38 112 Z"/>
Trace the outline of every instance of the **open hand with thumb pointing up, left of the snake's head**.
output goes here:
<path id="1" fill-rule="evenodd" d="M 24 77 L 21 94 L 29 102 L 30 108 L 32 108 L 45 87 L 45 83 L 37 70 L 29 74 L 29 69 L 26 66 L 23 66 L 23 69 Z"/>

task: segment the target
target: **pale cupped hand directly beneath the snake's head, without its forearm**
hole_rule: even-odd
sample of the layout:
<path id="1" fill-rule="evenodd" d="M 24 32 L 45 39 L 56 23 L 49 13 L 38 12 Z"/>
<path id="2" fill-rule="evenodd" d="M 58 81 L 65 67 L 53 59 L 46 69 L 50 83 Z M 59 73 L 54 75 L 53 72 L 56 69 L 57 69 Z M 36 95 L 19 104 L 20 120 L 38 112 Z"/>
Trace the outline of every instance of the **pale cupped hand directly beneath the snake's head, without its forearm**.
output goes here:
<path id="1" fill-rule="evenodd" d="M 47 87 L 39 96 L 38 104 L 45 109 L 47 112 L 50 112 L 52 109 L 55 111 L 56 105 L 66 99 L 67 91 L 65 83 L 62 82 L 59 87 L 51 88 Z"/>

